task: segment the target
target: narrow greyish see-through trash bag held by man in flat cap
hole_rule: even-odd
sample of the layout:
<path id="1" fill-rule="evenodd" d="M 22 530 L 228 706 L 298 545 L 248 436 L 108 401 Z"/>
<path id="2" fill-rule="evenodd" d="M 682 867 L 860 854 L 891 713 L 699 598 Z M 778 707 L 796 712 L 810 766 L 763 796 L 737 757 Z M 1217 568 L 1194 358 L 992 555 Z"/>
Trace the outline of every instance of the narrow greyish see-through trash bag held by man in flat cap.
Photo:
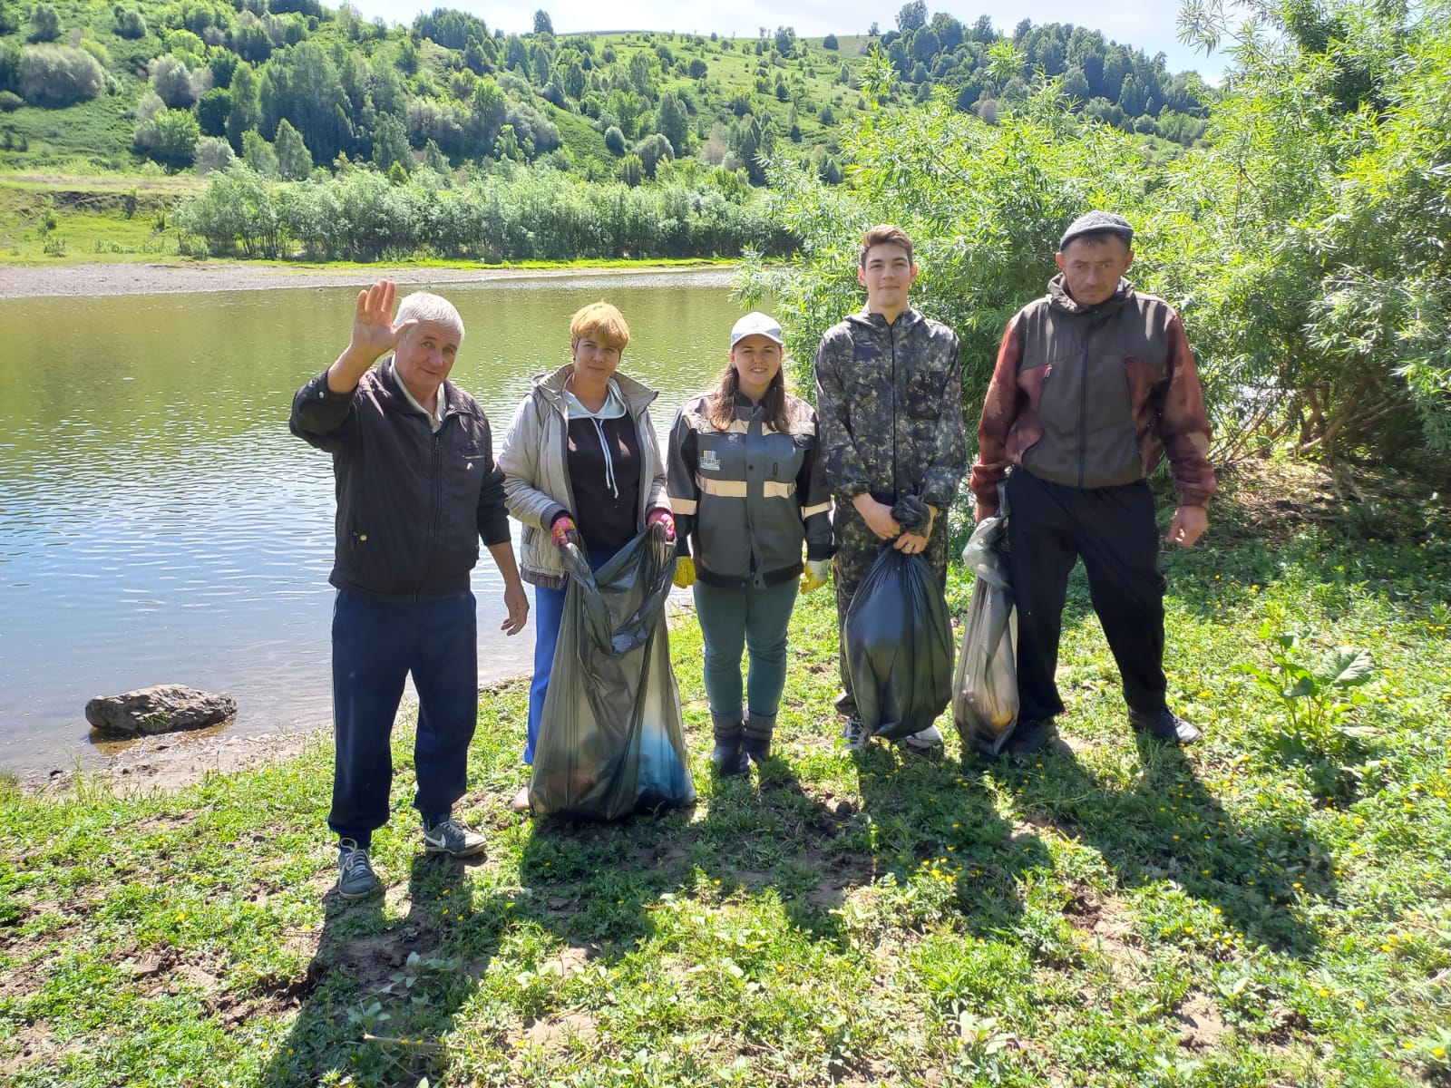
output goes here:
<path id="1" fill-rule="evenodd" d="M 952 683 L 952 718 L 963 750 L 997 756 L 1017 725 L 1019 711 L 1017 609 L 1008 576 L 1006 499 L 997 514 L 978 522 L 962 561 L 977 580 Z"/>

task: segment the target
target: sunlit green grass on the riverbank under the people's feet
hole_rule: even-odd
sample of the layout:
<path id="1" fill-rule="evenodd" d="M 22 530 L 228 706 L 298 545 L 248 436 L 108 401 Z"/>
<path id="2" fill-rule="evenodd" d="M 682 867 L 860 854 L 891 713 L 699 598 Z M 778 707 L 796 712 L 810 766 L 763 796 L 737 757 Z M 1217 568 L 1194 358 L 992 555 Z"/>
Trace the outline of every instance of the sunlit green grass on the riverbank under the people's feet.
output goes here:
<path id="1" fill-rule="evenodd" d="M 428 860 L 400 731 L 371 904 L 325 895 L 322 747 L 176 795 L 0 786 L 0 1076 L 1448 1084 L 1445 512 L 1261 516 L 1258 485 L 1238 495 L 1207 548 L 1167 557 L 1171 698 L 1207 733 L 1187 751 L 1130 737 L 1075 577 L 1071 756 L 849 756 L 821 592 L 794 621 L 781 759 L 747 780 L 707 770 L 699 635 L 678 625 L 694 811 L 509 814 L 511 683 L 483 699 L 463 805 L 488 857 Z M 1278 740 L 1232 669 L 1264 663 L 1267 618 L 1374 650 L 1370 737 L 1333 759 Z"/>

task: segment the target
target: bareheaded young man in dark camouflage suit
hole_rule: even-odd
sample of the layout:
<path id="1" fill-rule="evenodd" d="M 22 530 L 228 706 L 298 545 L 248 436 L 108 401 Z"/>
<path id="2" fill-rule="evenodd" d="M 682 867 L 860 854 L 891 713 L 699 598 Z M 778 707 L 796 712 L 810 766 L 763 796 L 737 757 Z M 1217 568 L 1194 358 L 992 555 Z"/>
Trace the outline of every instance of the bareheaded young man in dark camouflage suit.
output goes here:
<path id="1" fill-rule="evenodd" d="M 948 580 L 946 515 L 968 464 L 962 363 L 956 334 L 908 303 L 917 271 L 901 228 L 868 231 L 856 270 L 866 308 L 827 329 L 817 348 L 817 415 L 836 502 L 839 624 L 885 543 L 924 556 L 943 585 Z M 927 503 L 926 532 L 904 532 L 892 516 L 907 496 Z M 840 667 L 836 705 L 846 715 L 846 744 L 858 750 L 866 737 L 844 650 Z M 903 743 L 932 749 L 942 733 L 930 725 Z"/>

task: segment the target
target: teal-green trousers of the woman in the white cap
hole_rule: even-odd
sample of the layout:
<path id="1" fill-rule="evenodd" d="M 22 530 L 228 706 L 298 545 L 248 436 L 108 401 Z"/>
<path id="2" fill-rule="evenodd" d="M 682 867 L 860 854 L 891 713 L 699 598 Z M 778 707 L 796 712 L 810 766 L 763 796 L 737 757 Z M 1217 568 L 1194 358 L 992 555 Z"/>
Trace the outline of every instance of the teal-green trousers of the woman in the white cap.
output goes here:
<path id="1" fill-rule="evenodd" d="M 786 628 L 797 603 L 797 579 L 765 589 L 695 583 L 695 615 L 705 638 L 705 696 L 715 718 L 741 717 L 740 659 L 750 651 L 746 709 L 775 718 L 786 686 Z"/>

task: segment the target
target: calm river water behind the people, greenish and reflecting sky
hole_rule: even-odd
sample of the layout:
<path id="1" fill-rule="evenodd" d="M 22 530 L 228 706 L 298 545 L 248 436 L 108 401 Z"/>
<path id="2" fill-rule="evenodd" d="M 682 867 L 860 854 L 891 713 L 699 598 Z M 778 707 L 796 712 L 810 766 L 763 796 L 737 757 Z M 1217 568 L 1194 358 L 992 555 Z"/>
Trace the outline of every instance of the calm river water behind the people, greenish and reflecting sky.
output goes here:
<path id="1" fill-rule="evenodd" d="M 0 300 L 0 767 L 102 765 L 86 701 L 154 683 L 231 692 L 237 734 L 331 720 L 332 470 L 287 412 L 345 347 L 355 293 Z M 662 438 L 741 313 L 721 271 L 440 293 L 467 329 L 451 379 L 488 411 L 495 453 L 531 376 L 569 360 L 582 305 L 624 312 L 621 368 L 660 390 Z M 482 553 L 480 682 L 533 660 L 533 625 L 498 631 L 501 586 Z"/>

